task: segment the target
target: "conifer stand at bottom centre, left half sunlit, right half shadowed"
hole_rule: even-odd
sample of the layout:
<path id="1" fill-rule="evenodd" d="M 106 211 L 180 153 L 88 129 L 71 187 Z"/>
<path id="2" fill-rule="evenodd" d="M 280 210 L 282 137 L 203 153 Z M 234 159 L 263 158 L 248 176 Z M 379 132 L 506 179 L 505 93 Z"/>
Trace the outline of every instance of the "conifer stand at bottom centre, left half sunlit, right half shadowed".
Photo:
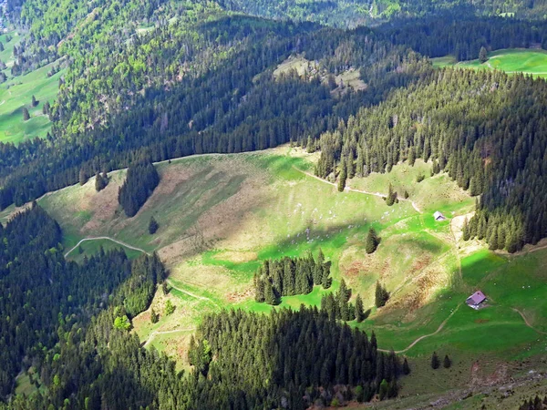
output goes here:
<path id="1" fill-rule="evenodd" d="M 193 408 L 307 408 L 397 395 L 402 365 L 374 334 L 316 308 L 209 315 L 191 340 Z"/>

